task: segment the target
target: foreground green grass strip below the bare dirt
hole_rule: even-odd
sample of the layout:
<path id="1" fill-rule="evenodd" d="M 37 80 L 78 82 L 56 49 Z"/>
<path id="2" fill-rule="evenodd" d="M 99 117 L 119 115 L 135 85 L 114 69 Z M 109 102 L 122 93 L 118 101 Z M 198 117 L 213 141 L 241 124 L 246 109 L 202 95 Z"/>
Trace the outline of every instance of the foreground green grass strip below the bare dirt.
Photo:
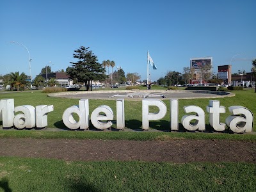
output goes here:
<path id="1" fill-rule="evenodd" d="M 255 191 L 249 163 L 70 162 L 0 157 L 0 191 Z M 3 190 L 4 191 L 4 190 Z"/>

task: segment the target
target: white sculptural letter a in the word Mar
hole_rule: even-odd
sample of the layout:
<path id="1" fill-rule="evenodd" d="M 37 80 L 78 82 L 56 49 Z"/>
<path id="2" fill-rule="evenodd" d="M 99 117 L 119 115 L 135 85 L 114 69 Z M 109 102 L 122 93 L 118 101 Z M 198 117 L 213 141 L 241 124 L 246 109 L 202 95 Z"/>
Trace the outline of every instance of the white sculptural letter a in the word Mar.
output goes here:
<path id="1" fill-rule="evenodd" d="M 22 112 L 13 118 L 13 125 L 18 129 L 33 128 L 36 126 L 35 108 L 33 106 L 17 106 L 15 113 Z"/>

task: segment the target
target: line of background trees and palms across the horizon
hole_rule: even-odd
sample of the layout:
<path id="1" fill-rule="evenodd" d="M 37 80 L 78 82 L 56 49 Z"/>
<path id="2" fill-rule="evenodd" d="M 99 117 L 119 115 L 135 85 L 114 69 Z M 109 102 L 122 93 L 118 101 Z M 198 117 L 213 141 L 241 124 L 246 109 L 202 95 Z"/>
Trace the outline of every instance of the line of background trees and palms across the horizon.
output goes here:
<path id="1" fill-rule="evenodd" d="M 99 81 L 109 86 L 113 86 L 113 84 L 134 84 L 136 81 L 140 79 L 140 75 L 138 72 L 128 72 L 125 76 L 125 72 L 121 67 L 118 67 L 118 70 L 113 71 L 116 63 L 115 61 L 104 60 L 102 63 L 99 63 L 97 60 L 97 56 L 90 51 L 90 47 L 81 46 L 79 49 L 74 51 L 73 57 L 76 58 L 76 62 L 70 62 L 71 67 L 67 67 L 66 73 L 76 83 L 84 84 L 86 90 L 92 90 L 92 82 Z M 108 68 L 108 74 L 106 74 L 106 67 Z M 109 67 L 111 67 L 111 73 L 109 73 Z M 51 73 L 51 67 L 46 66 L 42 68 L 40 74 Z M 256 76 L 256 59 L 252 61 L 252 72 L 254 72 L 254 76 Z M 64 72 L 64 70 L 61 70 Z M 203 82 L 208 83 L 221 83 L 221 79 L 218 79 L 211 72 L 211 67 L 205 65 L 200 68 L 197 72 L 202 79 Z M 24 90 L 26 88 L 29 89 L 31 83 L 29 80 L 29 76 L 22 72 L 11 72 L 10 74 L 6 74 L 4 76 L 0 76 L 0 79 L 3 79 L 4 86 L 10 86 L 10 90 Z M 169 71 L 166 73 L 164 77 L 160 77 L 157 80 L 157 83 L 160 85 L 172 86 L 175 84 L 189 84 L 191 80 L 195 79 L 195 70 L 193 68 L 184 67 L 183 73 Z M 38 75 L 33 80 L 33 86 L 36 88 L 40 86 L 45 86 L 44 77 Z M 58 85 L 58 81 L 56 79 L 51 78 L 47 80 L 48 86 Z M 256 88 L 255 88 L 256 92 Z"/>

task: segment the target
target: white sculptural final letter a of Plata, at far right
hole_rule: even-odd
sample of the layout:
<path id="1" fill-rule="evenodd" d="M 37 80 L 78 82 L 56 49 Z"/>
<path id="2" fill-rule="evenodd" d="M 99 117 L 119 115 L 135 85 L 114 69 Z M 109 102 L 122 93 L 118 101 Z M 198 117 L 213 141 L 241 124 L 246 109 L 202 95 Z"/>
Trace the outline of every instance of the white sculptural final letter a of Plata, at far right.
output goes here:
<path id="1" fill-rule="evenodd" d="M 233 115 L 226 118 L 226 124 L 234 132 L 252 132 L 253 113 L 243 106 L 231 106 L 228 108 Z"/>

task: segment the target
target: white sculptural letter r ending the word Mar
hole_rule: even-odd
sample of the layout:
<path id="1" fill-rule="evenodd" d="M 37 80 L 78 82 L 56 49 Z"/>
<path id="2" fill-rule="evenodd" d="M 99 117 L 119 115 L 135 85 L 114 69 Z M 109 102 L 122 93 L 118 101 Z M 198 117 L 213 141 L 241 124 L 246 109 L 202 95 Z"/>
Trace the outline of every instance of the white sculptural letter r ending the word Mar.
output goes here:
<path id="1" fill-rule="evenodd" d="M 36 106 L 36 127 L 42 128 L 48 125 L 47 115 L 49 112 L 53 111 L 53 105 L 40 105 Z"/>

